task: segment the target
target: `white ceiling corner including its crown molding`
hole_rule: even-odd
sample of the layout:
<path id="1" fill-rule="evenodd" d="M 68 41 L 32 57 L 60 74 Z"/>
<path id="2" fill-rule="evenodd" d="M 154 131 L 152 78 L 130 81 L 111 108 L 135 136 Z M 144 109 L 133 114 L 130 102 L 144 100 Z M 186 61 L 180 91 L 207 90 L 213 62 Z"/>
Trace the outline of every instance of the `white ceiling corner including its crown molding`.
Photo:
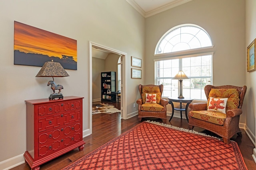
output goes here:
<path id="1" fill-rule="evenodd" d="M 142 16 L 149 17 L 192 0 L 126 0 Z"/>

